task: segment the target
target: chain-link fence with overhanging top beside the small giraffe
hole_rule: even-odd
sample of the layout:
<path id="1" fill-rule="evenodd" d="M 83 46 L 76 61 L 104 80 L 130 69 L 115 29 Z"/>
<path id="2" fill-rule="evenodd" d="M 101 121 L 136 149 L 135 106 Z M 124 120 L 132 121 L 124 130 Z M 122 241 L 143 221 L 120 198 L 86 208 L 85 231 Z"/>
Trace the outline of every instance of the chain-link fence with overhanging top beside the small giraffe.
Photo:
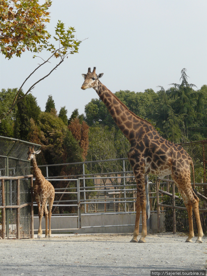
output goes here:
<path id="1" fill-rule="evenodd" d="M 0 176 L 15 177 L 30 174 L 30 163 L 27 161 L 28 147 L 35 146 L 38 150 L 41 146 L 29 142 L 0 136 Z M 30 202 L 29 179 L 20 179 L 20 205 Z M 2 190 L 0 183 L 0 191 Z M 1 193 L 0 193 L 1 194 Z M 5 205 L 17 205 L 17 182 L 5 180 Z M 2 206 L 2 196 L 0 196 Z M 2 224 L 2 211 L 0 210 L 0 227 Z M 30 230 L 30 206 L 20 209 L 20 235 L 29 236 Z M 6 209 L 6 236 L 17 235 L 16 209 Z"/>

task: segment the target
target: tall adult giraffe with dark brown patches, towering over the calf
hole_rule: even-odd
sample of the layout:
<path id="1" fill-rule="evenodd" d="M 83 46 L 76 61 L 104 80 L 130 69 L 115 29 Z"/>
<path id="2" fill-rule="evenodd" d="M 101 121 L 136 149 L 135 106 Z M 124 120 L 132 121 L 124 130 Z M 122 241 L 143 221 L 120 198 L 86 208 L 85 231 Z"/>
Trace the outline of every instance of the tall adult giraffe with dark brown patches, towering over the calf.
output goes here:
<path id="1" fill-rule="evenodd" d="M 188 211 L 189 236 L 186 242 L 192 242 L 194 237 L 192 207 L 195 213 L 198 237 L 196 242 L 202 243 L 203 231 L 198 211 L 199 199 L 194 193 L 190 181 L 190 165 L 193 174 L 194 167 L 191 157 L 178 144 L 165 140 L 156 129 L 146 120 L 136 116 L 130 111 L 110 90 L 101 82 L 102 74 L 96 74 L 96 67 L 93 72 L 88 68 L 87 74 L 82 74 L 85 81 L 82 89 L 94 88 L 98 96 L 106 105 L 117 126 L 124 133 L 131 144 L 128 152 L 128 159 L 133 168 L 137 183 L 136 197 L 136 221 L 133 238 L 131 242 L 138 242 L 140 211 L 142 212 L 142 233 L 139 242 L 145 243 L 147 235 L 146 226 L 146 194 L 144 178 L 148 173 L 159 175 L 163 178 L 171 174 L 178 186 L 185 206 Z"/>

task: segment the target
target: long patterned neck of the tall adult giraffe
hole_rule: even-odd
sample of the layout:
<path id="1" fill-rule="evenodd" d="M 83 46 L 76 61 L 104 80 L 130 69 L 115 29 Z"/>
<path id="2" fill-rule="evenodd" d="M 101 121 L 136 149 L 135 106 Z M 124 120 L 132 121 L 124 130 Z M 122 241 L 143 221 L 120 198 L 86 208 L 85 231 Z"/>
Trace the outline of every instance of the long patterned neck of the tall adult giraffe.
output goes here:
<path id="1" fill-rule="evenodd" d="M 135 138 L 135 132 L 142 128 L 143 125 L 152 125 L 144 119 L 136 116 L 132 111 L 128 109 L 108 88 L 106 88 L 99 80 L 94 90 L 105 104 L 109 113 L 113 117 L 113 120 L 124 133 L 126 138 L 132 144 Z M 152 127 L 153 128 L 153 127 Z"/>

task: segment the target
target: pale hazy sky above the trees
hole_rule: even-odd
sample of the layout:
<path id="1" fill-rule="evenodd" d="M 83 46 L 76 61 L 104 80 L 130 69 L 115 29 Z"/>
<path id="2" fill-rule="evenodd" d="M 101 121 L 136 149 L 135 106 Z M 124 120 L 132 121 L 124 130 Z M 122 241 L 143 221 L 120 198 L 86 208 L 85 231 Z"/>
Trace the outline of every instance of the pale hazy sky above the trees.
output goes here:
<path id="1" fill-rule="evenodd" d="M 113 93 L 119 90 L 144 92 L 156 86 L 167 90 L 180 83 L 182 68 L 189 83 L 198 89 L 207 84 L 207 2 L 206 0 L 54 0 L 47 30 L 54 35 L 58 20 L 75 27 L 84 40 L 79 53 L 69 55 L 56 71 L 36 85 L 33 95 L 45 110 L 52 95 L 59 112 L 79 114 L 92 98 L 94 89 L 81 90 L 88 67 L 104 73 L 101 82 Z M 86 40 L 85 40 L 86 39 Z M 39 54 L 42 58 L 49 53 Z M 20 87 L 41 60 L 31 52 L 21 58 L 0 55 L 0 89 Z M 54 59 L 54 64 L 56 60 Z M 24 91 L 52 69 L 52 64 L 29 79 Z"/>

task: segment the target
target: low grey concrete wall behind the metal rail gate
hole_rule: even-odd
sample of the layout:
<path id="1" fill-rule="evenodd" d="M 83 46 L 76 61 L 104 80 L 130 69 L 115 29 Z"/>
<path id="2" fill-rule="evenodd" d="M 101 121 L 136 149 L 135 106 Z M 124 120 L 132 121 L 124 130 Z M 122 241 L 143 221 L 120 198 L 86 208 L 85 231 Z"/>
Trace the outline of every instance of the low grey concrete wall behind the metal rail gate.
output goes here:
<path id="1" fill-rule="evenodd" d="M 77 217 L 52 217 L 51 230 L 52 233 L 133 233 L 136 214 L 120 214 L 120 215 L 81 215 L 81 226 L 77 228 Z M 141 224 L 141 217 L 140 217 Z M 113 227 L 91 227 L 90 226 L 102 226 L 102 225 L 122 225 Z M 125 225 L 125 226 L 123 226 Z M 132 226 L 129 226 L 132 225 Z M 86 228 L 84 228 L 86 227 Z M 34 229 L 39 228 L 39 218 L 34 217 Z M 65 230 L 70 228 L 72 230 Z M 45 219 L 42 219 L 42 229 L 45 229 Z M 54 230 L 60 229 L 60 230 Z M 139 231 L 141 232 L 141 226 Z M 150 227 L 154 231 L 157 230 L 157 214 L 151 214 Z M 160 231 L 164 230 L 164 214 L 160 214 Z M 44 230 L 43 230 L 44 232 Z M 35 231 L 37 233 L 37 231 Z"/>

